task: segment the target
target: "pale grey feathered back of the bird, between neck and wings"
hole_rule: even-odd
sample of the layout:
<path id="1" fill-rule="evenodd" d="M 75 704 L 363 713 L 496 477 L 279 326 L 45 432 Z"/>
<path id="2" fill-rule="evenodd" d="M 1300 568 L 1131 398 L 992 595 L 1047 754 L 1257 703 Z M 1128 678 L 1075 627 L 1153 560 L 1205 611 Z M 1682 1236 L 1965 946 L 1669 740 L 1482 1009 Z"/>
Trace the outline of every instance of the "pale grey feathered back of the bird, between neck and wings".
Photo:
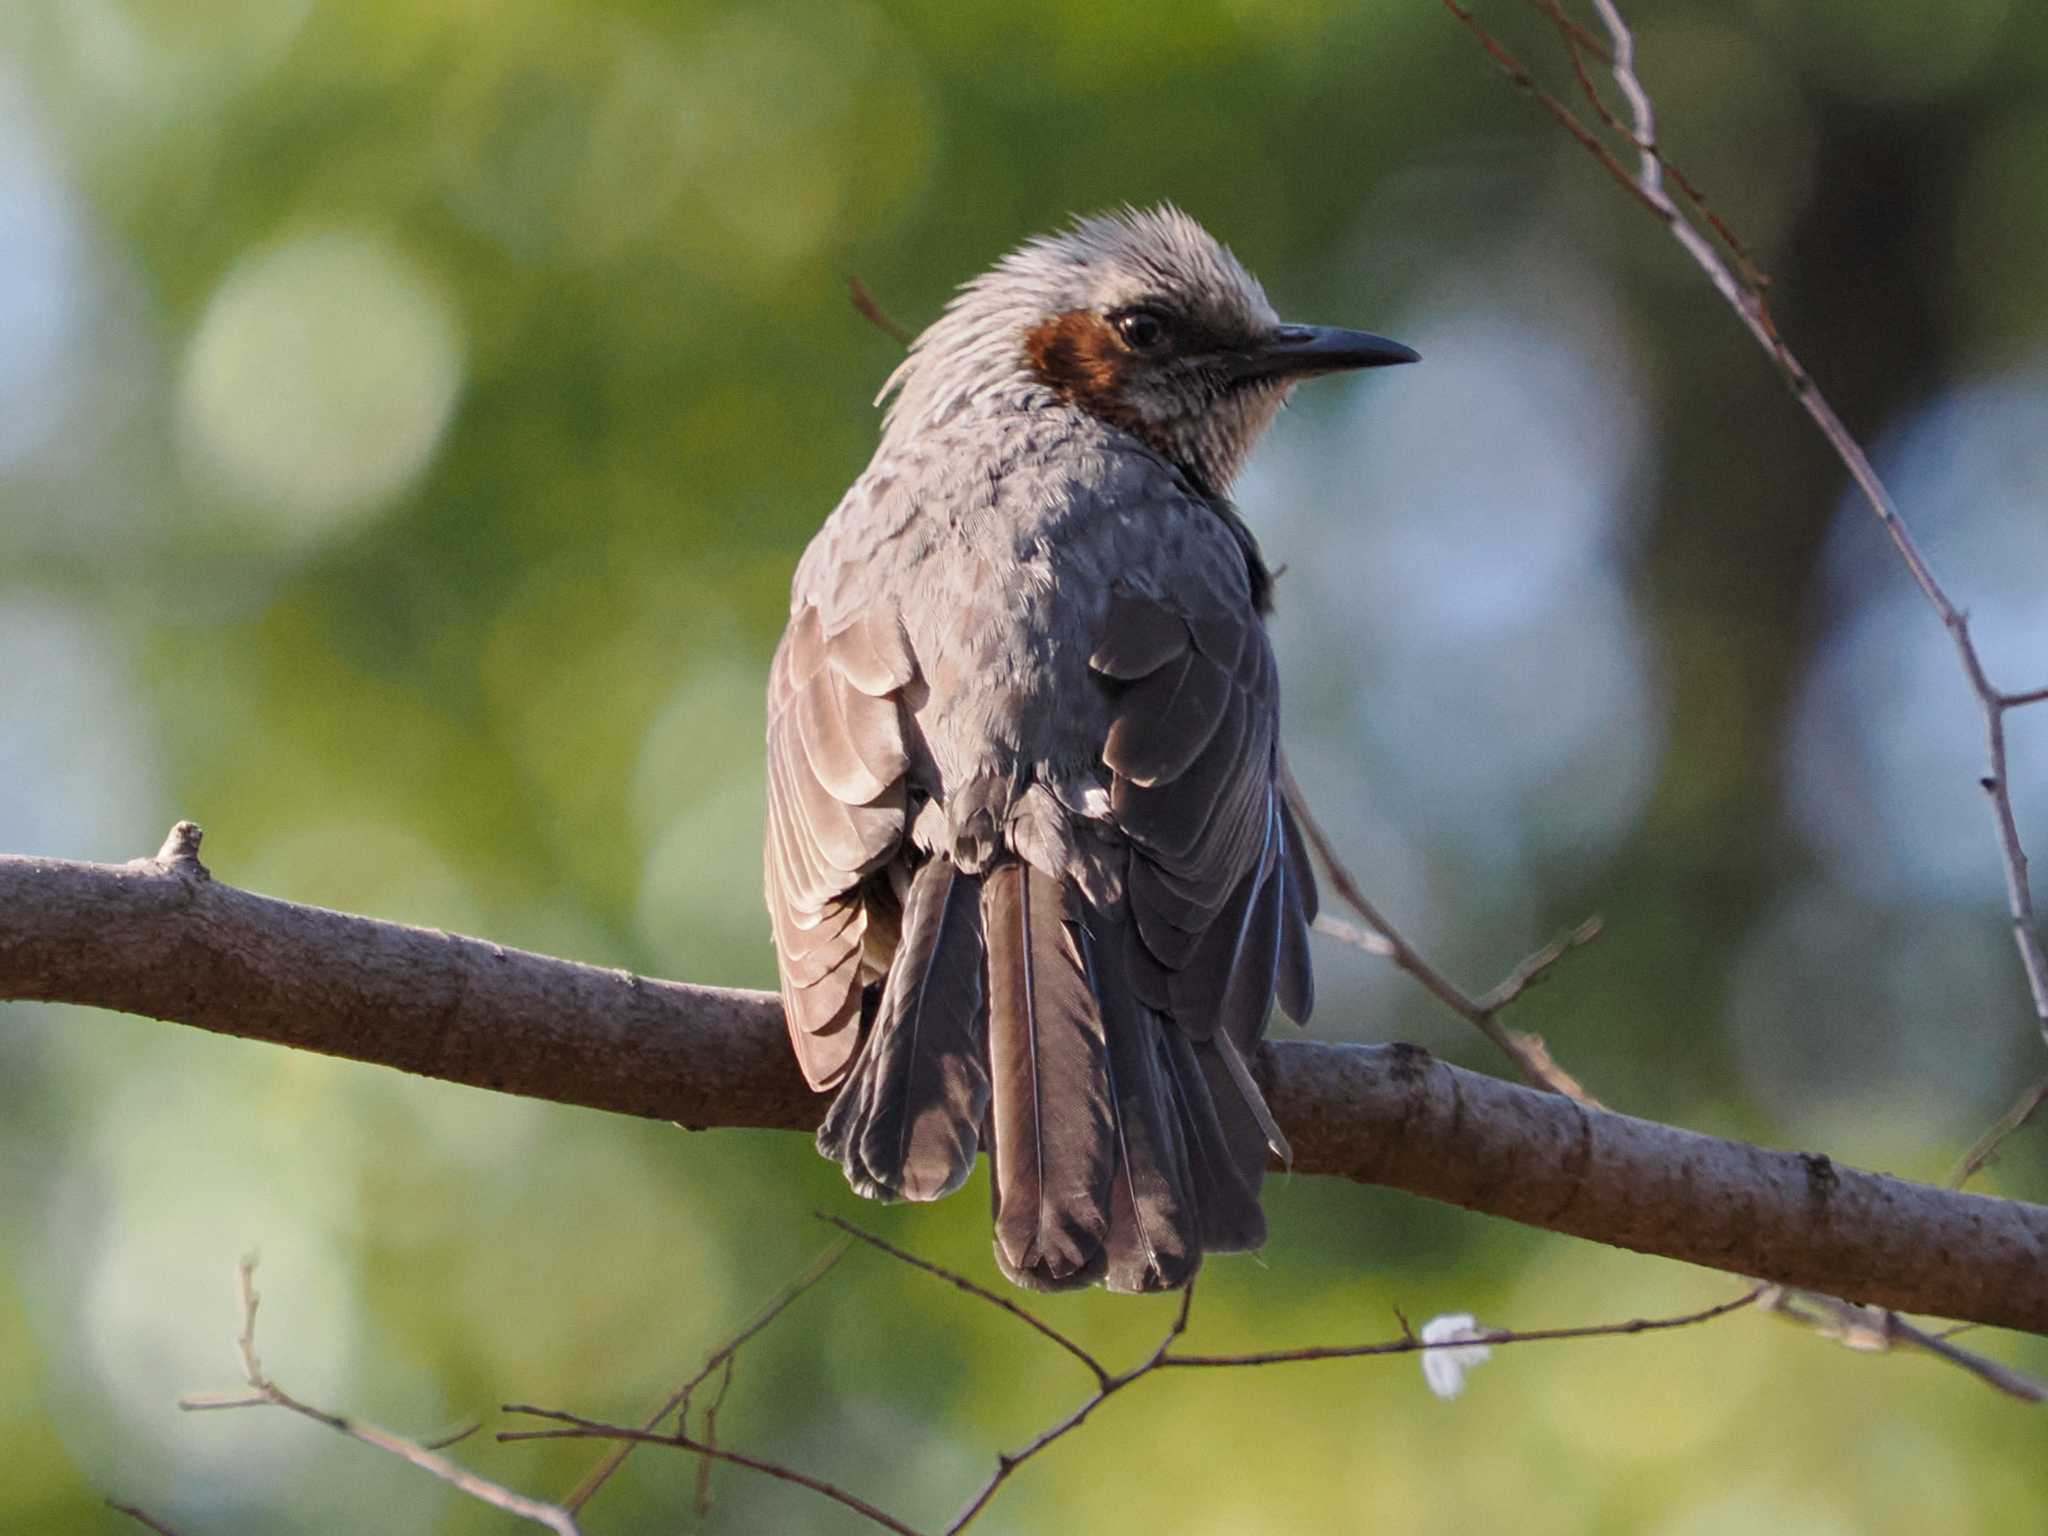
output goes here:
<path id="1" fill-rule="evenodd" d="M 815 606 L 825 633 L 895 614 L 918 659 L 913 797 L 987 778 L 1077 803 L 1108 791 L 1114 698 L 1090 657 L 1116 594 L 1174 594 L 1266 643 L 1229 516 L 1079 412 L 979 412 L 915 457 L 885 444 L 805 553 L 793 614 Z"/>

